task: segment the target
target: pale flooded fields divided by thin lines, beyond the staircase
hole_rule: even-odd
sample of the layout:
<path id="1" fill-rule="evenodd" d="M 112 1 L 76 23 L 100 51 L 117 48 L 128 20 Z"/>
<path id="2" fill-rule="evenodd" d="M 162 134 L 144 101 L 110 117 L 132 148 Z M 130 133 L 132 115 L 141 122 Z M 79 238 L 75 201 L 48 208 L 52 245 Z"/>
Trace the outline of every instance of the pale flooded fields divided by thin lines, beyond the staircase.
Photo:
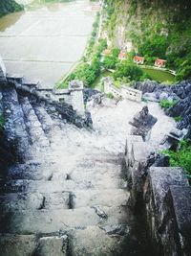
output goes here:
<path id="1" fill-rule="evenodd" d="M 2 17 L 0 55 L 7 72 L 53 87 L 83 55 L 95 17 L 90 6 L 87 0 L 34 4 Z"/>

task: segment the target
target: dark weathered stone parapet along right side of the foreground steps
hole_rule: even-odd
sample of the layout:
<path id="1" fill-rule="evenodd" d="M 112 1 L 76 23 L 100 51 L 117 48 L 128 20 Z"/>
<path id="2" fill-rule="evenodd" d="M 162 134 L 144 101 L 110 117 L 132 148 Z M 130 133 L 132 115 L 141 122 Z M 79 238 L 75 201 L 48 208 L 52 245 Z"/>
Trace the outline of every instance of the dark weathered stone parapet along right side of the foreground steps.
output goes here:
<path id="1" fill-rule="evenodd" d="M 125 162 L 132 206 L 144 216 L 156 255 L 188 256 L 191 188 L 181 168 L 154 167 L 154 155 L 140 136 L 128 137 Z"/>

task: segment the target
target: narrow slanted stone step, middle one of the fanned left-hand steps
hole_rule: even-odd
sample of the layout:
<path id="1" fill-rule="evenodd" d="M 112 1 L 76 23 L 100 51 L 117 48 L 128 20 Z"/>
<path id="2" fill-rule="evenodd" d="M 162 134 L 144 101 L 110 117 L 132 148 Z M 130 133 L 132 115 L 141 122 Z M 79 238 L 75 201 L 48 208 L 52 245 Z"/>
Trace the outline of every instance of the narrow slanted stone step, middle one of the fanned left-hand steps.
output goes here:
<path id="1" fill-rule="evenodd" d="M 25 124 L 28 128 L 32 145 L 43 148 L 50 146 L 50 142 L 44 133 L 41 123 L 39 122 L 29 99 L 23 98 L 20 103 L 25 115 Z"/>

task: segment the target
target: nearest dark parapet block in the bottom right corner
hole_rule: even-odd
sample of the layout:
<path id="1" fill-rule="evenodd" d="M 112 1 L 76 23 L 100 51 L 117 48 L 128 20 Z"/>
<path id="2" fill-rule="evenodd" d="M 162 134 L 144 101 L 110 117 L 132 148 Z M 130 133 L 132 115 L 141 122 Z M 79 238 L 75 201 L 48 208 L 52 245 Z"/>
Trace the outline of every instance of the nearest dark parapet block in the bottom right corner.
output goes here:
<path id="1" fill-rule="evenodd" d="M 164 255 L 190 255 L 191 251 L 191 188 L 170 186 L 162 206 L 159 227 Z"/>

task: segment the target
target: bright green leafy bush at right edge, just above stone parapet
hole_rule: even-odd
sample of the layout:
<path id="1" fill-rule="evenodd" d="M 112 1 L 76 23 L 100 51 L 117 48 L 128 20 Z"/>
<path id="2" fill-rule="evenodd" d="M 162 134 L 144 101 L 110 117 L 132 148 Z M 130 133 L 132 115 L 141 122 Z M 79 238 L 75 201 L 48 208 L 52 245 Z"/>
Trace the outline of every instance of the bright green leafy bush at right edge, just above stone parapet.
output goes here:
<path id="1" fill-rule="evenodd" d="M 169 155 L 170 166 L 182 167 L 191 181 L 191 144 L 188 141 L 181 141 L 178 151 L 162 151 Z"/>

